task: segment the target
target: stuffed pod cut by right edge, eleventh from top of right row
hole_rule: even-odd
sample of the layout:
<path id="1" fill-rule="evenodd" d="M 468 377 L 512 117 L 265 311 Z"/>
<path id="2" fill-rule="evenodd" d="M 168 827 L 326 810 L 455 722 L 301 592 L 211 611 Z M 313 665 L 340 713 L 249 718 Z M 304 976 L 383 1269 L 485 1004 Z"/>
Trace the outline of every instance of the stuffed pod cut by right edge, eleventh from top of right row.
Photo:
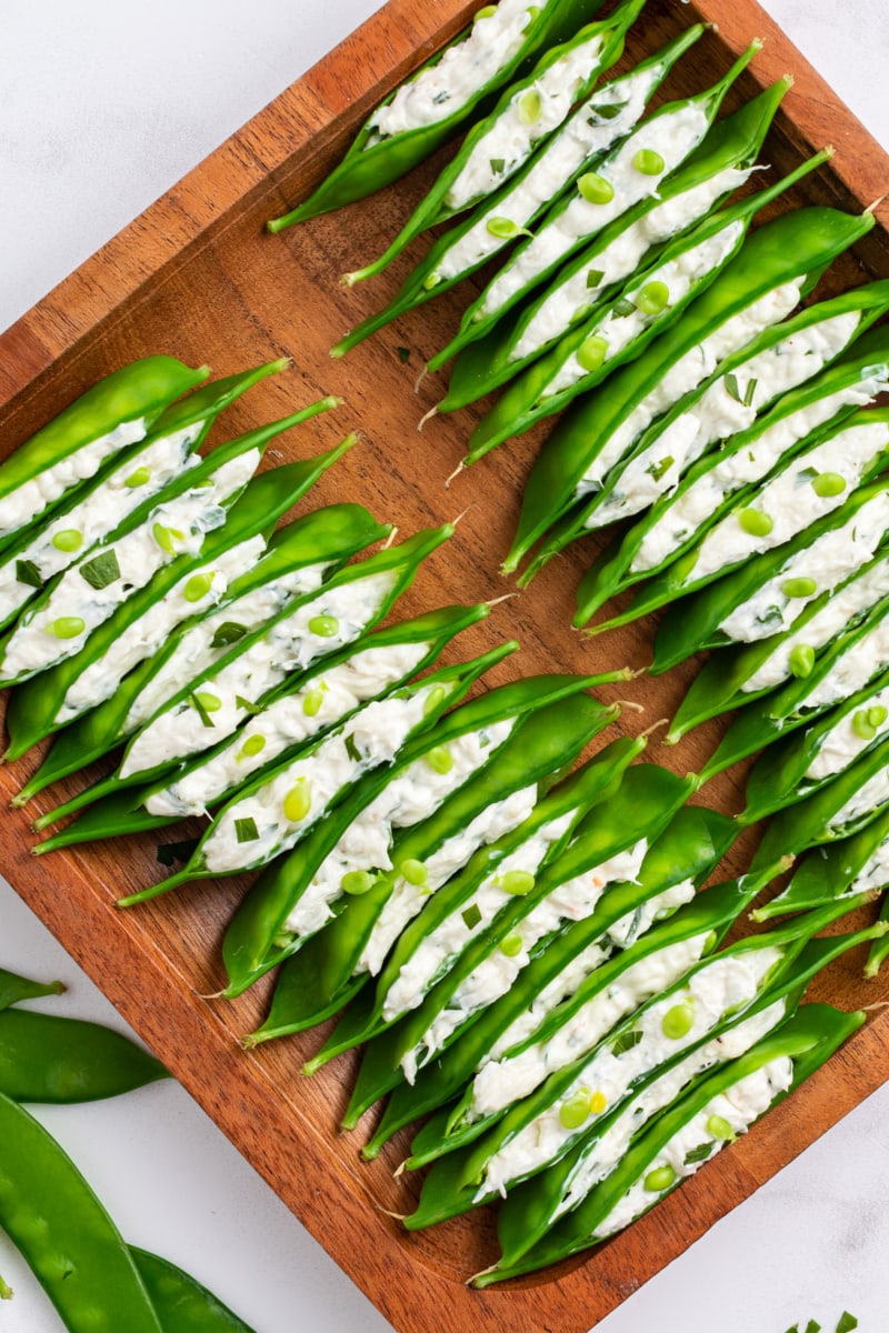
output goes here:
<path id="1" fill-rule="evenodd" d="M 652 673 L 661 674 L 701 648 L 768 639 L 796 620 L 806 603 L 870 560 L 888 529 L 889 481 L 853 492 L 840 509 L 790 541 L 753 556 L 681 607 L 669 608 L 654 637 Z M 589 633 L 613 623 L 604 621 Z"/>

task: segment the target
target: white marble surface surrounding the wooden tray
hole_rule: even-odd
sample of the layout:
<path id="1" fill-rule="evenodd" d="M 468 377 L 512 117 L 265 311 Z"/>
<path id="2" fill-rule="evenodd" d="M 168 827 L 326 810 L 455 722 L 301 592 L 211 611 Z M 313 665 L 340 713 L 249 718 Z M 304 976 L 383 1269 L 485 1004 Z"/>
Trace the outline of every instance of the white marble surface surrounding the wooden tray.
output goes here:
<path id="1" fill-rule="evenodd" d="M 0 328 L 375 8 L 375 0 L 5 0 Z M 885 0 L 768 0 L 766 8 L 889 145 Z M 71 986 L 68 1012 L 120 1022 L 1 881 L 0 965 L 60 976 Z M 211 1284 L 257 1333 L 389 1328 L 180 1088 L 155 1085 L 40 1118 L 129 1240 Z M 849 1309 L 862 1333 L 882 1333 L 888 1194 L 884 1089 L 598 1328 L 784 1333 L 817 1318 L 832 1330 Z M 0 1272 L 16 1288 L 0 1306 L 0 1330 L 57 1333 L 57 1316 L 1 1236 Z"/>

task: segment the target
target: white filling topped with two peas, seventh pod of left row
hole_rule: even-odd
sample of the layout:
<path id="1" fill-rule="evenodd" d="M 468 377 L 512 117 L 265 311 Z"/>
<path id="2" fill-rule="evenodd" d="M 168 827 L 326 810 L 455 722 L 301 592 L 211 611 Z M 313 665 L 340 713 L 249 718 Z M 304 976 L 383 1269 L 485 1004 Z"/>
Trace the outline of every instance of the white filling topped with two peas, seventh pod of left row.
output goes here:
<path id="1" fill-rule="evenodd" d="M 184 773 L 144 802 L 149 814 L 205 814 L 207 806 L 239 786 L 257 768 L 340 721 L 360 704 L 407 680 L 427 656 L 431 644 L 392 644 L 365 648 L 303 689 L 268 704 L 217 754 Z M 308 712 L 307 712 L 308 706 Z"/>

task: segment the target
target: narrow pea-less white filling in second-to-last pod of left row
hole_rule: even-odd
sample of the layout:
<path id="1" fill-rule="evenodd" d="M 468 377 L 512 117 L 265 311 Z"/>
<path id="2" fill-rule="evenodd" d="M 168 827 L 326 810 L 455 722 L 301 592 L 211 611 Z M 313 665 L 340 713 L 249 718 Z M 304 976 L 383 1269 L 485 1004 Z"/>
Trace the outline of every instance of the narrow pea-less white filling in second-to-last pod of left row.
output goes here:
<path id="1" fill-rule="evenodd" d="M 720 1037 L 713 1037 L 712 1041 L 706 1041 L 702 1046 L 698 1046 L 690 1056 L 681 1060 L 672 1069 L 668 1069 L 666 1073 L 649 1084 L 638 1096 L 633 1097 L 626 1110 L 617 1117 L 610 1129 L 593 1142 L 590 1152 L 584 1156 L 577 1173 L 572 1177 L 570 1185 L 565 1192 L 565 1197 L 553 1214 L 553 1220 L 562 1217 L 564 1213 L 576 1208 L 586 1197 L 593 1185 L 598 1185 L 606 1176 L 610 1176 L 628 1152 L 633 1136 L 658 1110 L 664 1110 L 676 1101 L 692 1078 L 702 1074 L 713 1065 L 724 1065 L 726 1061 L 745 1054 L 750 1046 L 756 1045 L 773 1028 L 777 1028 L 785 1016 L 786 1000 L 778 1000 L 776 1004 L 769 1005 L 768 1009 L 761 1009 L 760 1013 L 754 1013 L 750 1018 L 745 1018 L 744 1022 L 729 1028 Z"/>

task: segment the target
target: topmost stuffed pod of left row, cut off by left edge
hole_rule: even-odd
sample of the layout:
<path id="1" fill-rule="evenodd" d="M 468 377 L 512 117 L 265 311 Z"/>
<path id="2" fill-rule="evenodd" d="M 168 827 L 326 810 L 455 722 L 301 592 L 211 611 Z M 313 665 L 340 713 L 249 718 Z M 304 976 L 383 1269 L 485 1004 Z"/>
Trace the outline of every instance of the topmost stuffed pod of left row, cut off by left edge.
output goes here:
<path id="1" fill-rule="evenodd" d="M 36 515 L 55 508 L 112 455 L 144 439 L 180 393 L 205 380 L 172 356 L 112 371 L 0 464 L 0 548 Z"/>

